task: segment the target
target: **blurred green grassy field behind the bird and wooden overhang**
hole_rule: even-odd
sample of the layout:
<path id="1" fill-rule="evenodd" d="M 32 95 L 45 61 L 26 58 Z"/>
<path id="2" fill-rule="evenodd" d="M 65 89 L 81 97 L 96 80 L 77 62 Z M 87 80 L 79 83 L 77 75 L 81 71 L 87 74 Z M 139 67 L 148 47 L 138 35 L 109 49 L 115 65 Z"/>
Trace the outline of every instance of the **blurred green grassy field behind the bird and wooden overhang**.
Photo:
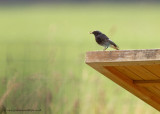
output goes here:
<path id="1" fill-rule="evenodd" d="M 34 4 L 0 7 L 0 105 L 8 114 L 158 114 L 85 64 L 103 50 L 159 48 L 160 4 Z M 112 49 L 109 49 L 112 50 Z M 40 111 L 9 111 L 9 110 Z"/>

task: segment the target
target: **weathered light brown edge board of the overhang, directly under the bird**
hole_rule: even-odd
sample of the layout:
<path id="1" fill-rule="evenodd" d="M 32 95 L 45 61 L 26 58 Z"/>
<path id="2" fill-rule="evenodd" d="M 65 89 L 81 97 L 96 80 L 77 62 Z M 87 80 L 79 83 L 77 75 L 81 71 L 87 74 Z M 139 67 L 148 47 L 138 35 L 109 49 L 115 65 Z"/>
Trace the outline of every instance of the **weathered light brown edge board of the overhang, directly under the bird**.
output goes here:
<path id="1" fill-rule="evenodd" d="M 105 66 L 160 64 L 160 49 L 87 52 L 86 63 Z"/>

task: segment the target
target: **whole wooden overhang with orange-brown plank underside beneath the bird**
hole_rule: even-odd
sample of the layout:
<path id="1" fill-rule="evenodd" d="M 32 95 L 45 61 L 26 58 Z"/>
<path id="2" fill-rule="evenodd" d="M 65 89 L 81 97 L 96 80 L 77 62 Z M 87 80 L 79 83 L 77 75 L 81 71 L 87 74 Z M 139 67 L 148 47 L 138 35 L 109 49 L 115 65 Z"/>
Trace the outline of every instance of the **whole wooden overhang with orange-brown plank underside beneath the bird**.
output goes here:
<path id="1" fill-rule="evenodd" d="M 160 111 L 160 49 L 87 52 L 86 63 Z"/>

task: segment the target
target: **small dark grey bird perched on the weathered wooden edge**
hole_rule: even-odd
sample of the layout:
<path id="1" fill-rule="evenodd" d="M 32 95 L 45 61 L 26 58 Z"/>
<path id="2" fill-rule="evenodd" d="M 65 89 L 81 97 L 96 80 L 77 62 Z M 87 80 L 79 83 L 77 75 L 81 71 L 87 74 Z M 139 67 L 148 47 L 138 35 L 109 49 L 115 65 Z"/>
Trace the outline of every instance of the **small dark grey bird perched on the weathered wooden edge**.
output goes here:
<path id="1" fill-rule="evenodd" d="M 105 34 L 101 33 L 100 31 L 93 31 L 90 32 L 90 34 L 94 34 L 96 42 L 104 47 L 104 51 L 108 47 L 112 47 L 116 50 L 119 50 L 119 47 L 112 41 L 110 40 Z"/>

